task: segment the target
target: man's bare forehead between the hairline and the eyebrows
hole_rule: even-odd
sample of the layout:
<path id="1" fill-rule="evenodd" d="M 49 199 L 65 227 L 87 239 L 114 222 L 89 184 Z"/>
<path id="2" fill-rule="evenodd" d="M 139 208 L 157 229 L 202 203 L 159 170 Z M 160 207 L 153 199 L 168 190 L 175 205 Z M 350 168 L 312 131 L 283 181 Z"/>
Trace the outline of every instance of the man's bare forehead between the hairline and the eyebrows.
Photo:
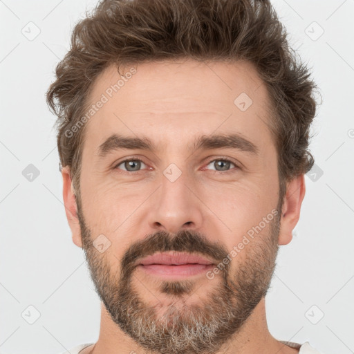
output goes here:
<path id="1" fill-rule="evenodd" d="M 84 142 L 90 153 L 112 133 L 148 135 L 176 149 L 196 135 L 230 131 L 259 147 L 272 144 L 268 93 L 248 62 L 151 62 L 126 65 L 120 73 L 110 66 L 93 84 L 95 112 Z"/>

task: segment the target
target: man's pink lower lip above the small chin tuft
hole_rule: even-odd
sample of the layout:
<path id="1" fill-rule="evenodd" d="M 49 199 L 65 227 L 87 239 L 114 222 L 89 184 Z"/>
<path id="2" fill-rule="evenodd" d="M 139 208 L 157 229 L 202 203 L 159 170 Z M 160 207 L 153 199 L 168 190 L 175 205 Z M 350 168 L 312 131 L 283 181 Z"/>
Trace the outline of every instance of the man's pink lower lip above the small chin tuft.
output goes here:
<path id="1" fill-rule="evenodd" d="M 145 272 L 153 275 L 164 277 L 190 277 L 197 274 L 205 274 L 207 270 L 214 267 L 212 264 L 180 264 L 180 265 L 166 265 L 166 264 L 150 264 L 139 267 Z"/>

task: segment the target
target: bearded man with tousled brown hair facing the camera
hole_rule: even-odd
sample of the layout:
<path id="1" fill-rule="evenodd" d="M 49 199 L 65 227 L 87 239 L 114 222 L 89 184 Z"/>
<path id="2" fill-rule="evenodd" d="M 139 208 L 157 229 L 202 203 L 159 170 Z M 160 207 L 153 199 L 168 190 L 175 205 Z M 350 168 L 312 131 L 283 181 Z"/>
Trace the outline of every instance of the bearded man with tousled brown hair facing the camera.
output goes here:
<path id="1" fill-rule="evenodd" d="M 316 108 L 270 2 L 102 1 L 56 74 L 66 216 L 102 299 L 70 353 L 318 354 L 265 317 Z"/>

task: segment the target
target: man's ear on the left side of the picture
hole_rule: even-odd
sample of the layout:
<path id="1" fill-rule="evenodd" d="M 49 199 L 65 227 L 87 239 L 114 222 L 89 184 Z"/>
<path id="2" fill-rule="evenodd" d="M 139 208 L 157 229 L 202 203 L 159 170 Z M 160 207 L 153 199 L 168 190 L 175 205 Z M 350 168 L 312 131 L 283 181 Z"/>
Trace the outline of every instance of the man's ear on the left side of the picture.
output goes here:
<path id="1" fill-rule="evenodd" d="M 63 199 L 66 212 L 66 218 L 71 228 L 73 243 L 82 248 L 81 227 L 77 217 L 76 197 L 74 194 L 73 183 L 70 176 L 70 167 L 62 168 L 63 177 Z"/>

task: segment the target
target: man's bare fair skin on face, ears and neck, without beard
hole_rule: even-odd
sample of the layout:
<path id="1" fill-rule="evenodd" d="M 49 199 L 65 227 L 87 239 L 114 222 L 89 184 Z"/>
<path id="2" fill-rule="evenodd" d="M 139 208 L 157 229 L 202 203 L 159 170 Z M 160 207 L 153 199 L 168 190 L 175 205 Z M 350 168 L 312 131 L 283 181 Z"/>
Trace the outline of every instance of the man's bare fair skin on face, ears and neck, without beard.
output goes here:
<path id="1" fill-rule="evenodd" d="M 252 226 L 259 225 L 262 218 L 277 207 L 279 198 L 277 150 L 268 127 L 268 92 L 252 64 L 201 64 L 186 60 L 139 64 L 136 69 L 131 79 L 86 123 L 80 175 L 86 225 L 93 239 L 104 234 L 111 242 L 104 257 L 111 270 L 117 273 L 127 249 L 144 240 L 147 234 L 158 231 L 171 234 L 180 230 L 200 232 L 211 243 L 217 241 L 225 250 L 232 250 Z M 106 88 L 119 79 L 115 68 L 106 68 L 94 83 L 91 102 L 100 100 Z M 235 98 L 243 92 L 253 101 L 246 111 L 234 104 Z M 241 133 L 253 142 L 259 148 L 259 156 L 236 149 L 187 149 L 201 134 L 230 132 Z M 112 133 L 147 136 L 156 143 L 158 150 L 122 149 L 100 159 L 97 148 Z M 113 169 L 123 158 L 133 159 L 133 156 L 144 162 L 137 174 L 124 170 L 127 168 L 124 163 Z M 229 171 L 216 174 L 214 160 L 223 157 L 241 164 L 241 169 L 230 165 Z M 163 174 L 171 163 L 182 171 L 174 183 Z M 62 177 L 64 205 L 73 242 L 82 248 L 82 224 L 77 215 L 68 167 L 62 169 Z M 279 215 L 278 245 L 286 245 L 292 240 L 304 195 L 305 181 L 301 175 L 287 186 Z M 252 257 L 254 247 L 262 245 L 266 240 L 264 235 L 269 232 L 267 225 L 257 241 L 251 242 L 232 259 L 231 276 L 236 276 L 245 259 Z M 135 275 L 133 282 L 141 299 L 153 306 L 158 297 L 162 308 L 157 314 L 163 315 L 163 306 L 169 306 L 171 298 L 159 292 L 159 279 L 147 277 L 142 271 Z M 222 278 L 207 281 L 198 276 L 193 279 L 195 292 L 188 297 L 187 306 L 206 301 L 212 290 L 220 286 Z M 88 354 L 92 349 L 90 346 L 80 354 Z M 102 303 L 100 336 L 93 353 L 131 351 L 147 353 L 113 322 Z M 299 352 L 281 344 L 270 334 L 264 297 L 239 333 L 217 354 L 259 352 Z"/>

